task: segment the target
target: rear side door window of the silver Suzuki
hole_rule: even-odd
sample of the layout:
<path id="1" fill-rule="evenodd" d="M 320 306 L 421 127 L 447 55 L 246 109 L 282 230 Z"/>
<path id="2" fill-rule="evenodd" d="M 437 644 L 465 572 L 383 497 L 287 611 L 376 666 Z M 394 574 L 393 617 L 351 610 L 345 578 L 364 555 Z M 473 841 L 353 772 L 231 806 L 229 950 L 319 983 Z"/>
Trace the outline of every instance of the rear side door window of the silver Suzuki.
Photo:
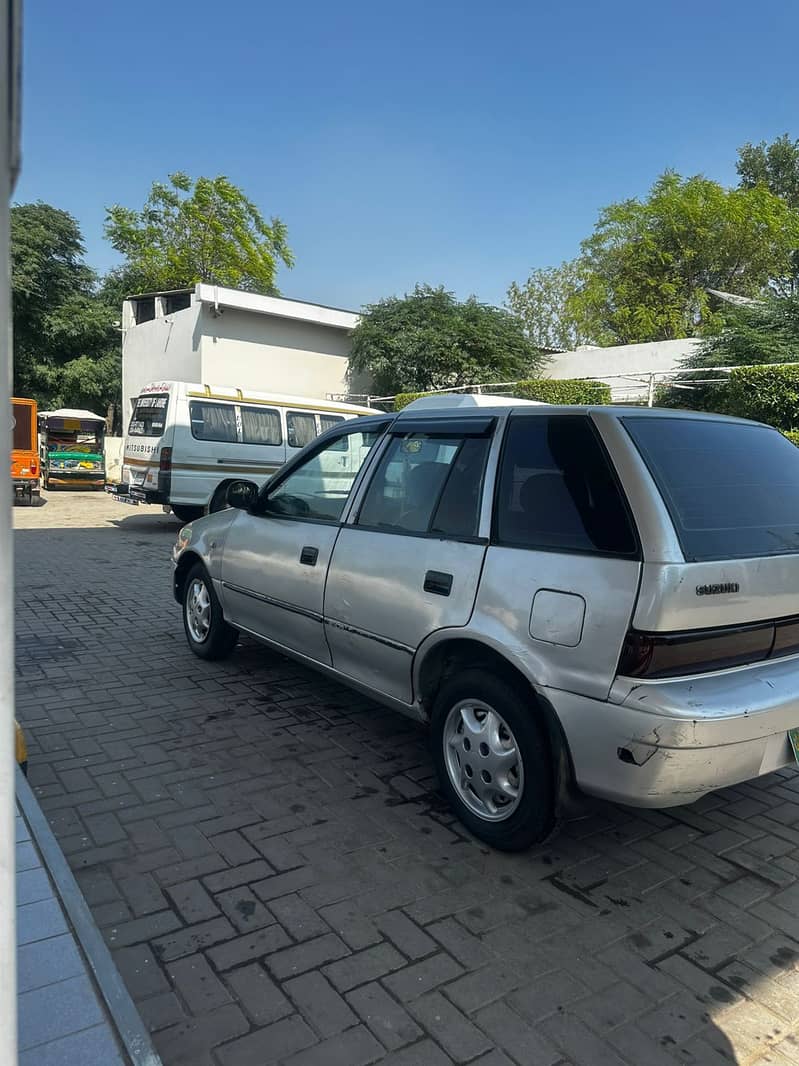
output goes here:
<path id="1" fill-rule="evenodd" d="M 488 437 L 394 437 L 358 524 L 398 533 L 477 534 Z"/>

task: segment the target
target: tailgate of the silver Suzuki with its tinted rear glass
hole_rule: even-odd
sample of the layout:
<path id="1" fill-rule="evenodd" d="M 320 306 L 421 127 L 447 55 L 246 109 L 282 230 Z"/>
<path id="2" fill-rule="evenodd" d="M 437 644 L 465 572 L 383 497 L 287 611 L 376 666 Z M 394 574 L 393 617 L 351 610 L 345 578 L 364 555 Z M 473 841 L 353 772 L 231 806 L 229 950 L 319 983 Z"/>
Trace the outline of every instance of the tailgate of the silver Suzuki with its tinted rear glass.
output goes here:
<path id="1" fill-rule="evenodd" d="M 635 628 L 684 633 L 795 619 L 799 449 L 752 422 L 631 414 L 621 424 L 678 540 L 675 561 L 645 552 Z"/>

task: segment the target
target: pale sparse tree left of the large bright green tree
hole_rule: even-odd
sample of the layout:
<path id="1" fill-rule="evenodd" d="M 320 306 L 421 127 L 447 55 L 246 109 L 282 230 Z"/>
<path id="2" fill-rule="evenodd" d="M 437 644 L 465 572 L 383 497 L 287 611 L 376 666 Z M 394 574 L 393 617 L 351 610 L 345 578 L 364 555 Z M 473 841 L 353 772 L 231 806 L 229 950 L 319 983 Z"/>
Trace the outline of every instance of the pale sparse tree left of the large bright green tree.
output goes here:
<path id="1" fill-rule="evenodd" d="M 508 307 L 538 348 L 571 351 L 590 340 L 572 306 L 578 277 L 576 263 L 564 262 L 532 271 L 521 285 L 510 284 Z"/>

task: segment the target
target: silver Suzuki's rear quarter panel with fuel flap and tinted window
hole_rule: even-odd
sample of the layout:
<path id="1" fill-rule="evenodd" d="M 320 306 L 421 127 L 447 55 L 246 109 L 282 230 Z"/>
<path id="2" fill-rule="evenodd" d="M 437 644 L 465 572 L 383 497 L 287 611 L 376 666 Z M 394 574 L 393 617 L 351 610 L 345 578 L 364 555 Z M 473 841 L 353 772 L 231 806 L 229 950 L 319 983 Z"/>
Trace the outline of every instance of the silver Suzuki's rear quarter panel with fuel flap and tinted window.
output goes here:
<path id="1" fill-rule="evenodd" d="M 542 685 L 606 698 L 640 576 L 616 473 L 589 415 L 508 420 L 477 624 Z"/>

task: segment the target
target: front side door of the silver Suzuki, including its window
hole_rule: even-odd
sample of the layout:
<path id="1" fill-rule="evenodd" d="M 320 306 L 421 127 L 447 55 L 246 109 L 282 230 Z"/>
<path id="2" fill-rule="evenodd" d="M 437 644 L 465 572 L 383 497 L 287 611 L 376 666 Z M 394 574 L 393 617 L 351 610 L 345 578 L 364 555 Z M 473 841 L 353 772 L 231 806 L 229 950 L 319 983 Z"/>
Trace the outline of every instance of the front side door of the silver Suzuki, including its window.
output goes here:
<path id="1" fill-rule="evenodd" d="M 327 567 L 349 491 L 384 429 L 357 424 L 311 447 L 257 513 L 238 515 L 222 560 L 225 615 L 233 625 L 327 664 Z"/>

